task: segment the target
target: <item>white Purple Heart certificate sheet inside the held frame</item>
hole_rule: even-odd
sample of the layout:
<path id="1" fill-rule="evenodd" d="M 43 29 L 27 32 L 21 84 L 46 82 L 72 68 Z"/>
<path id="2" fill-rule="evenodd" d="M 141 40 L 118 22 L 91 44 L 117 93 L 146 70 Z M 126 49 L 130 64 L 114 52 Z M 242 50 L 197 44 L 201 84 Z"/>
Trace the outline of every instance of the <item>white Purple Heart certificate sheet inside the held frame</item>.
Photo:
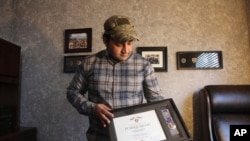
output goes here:
<path id="1" fill-rule="evenodd" d="M 165 133 L 155 110 L 113 119 L 118 141 L 162 141 Z"/>

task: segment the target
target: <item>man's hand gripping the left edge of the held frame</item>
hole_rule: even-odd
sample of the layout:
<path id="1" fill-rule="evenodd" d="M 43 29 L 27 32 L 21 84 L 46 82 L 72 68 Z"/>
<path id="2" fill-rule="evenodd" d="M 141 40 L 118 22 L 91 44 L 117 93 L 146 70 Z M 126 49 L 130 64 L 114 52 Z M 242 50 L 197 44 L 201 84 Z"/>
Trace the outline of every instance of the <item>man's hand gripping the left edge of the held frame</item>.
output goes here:
<path id="1" fill-rule="evenodd" d="M 110 112 L 110 108 L 104 104 L 96 104 L 95 115 L 101 120 L 103 127 L 106 127 L 110 123 L 110 118 L 114 115 Z"/>

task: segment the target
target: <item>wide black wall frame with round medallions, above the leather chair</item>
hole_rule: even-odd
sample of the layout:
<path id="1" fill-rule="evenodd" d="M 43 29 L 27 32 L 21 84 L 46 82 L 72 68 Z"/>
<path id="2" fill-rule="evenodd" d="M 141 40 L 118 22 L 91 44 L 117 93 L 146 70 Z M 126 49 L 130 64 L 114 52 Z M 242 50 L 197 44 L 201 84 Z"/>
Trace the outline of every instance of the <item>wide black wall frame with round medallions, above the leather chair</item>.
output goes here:
<path id="1" fill-rule="evenodd" d="M 176 52 L 178 70 L 223 69 L 222 51 Z"/>

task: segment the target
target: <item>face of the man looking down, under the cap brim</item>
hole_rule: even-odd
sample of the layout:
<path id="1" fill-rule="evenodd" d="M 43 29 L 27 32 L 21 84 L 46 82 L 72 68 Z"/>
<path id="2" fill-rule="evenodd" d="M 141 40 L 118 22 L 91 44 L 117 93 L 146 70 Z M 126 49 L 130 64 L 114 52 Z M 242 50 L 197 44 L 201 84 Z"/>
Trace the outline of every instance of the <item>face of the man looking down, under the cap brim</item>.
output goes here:
<path id="1" fill-rule="evenodd" d="M 109 40 L 106 44 L 107 50 L 118 61 L 125 61 L 132 53 L 132 41 L 127 41 L 124 43 L 118 43 L 113 40 Z"/>

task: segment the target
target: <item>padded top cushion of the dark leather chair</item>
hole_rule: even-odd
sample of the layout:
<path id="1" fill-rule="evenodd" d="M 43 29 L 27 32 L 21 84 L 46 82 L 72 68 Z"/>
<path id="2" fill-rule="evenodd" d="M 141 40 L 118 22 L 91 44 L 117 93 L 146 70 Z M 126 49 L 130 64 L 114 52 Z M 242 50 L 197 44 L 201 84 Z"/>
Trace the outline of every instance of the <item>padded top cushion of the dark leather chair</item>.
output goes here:
<path id="1" fill-rule="evenodd" d="M 250 85 L 209 85 L 211 110 L 216 113 L 250 113 Z"/>

